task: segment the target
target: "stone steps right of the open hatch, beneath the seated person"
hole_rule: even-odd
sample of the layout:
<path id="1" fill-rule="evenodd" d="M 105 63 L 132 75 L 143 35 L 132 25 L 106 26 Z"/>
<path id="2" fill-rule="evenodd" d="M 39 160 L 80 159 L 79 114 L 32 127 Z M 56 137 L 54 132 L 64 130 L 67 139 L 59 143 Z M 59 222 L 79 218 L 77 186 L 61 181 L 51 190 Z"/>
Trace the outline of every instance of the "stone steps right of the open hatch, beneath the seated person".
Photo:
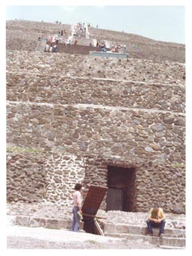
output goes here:
<path id="1" fill-rule="evenodd" d="M 185 229 L 166 228 L 164 237 L 158 237 L 158 228 L 153 228 L 153 236 L 147 235 L 147 228 L 131 225 L 105 224 L 104 234 L 107 237 L 120 237 L 127 240 L 140 240 L 140 243 L 151 243 L 162 249 L 185 249 Z"/>

